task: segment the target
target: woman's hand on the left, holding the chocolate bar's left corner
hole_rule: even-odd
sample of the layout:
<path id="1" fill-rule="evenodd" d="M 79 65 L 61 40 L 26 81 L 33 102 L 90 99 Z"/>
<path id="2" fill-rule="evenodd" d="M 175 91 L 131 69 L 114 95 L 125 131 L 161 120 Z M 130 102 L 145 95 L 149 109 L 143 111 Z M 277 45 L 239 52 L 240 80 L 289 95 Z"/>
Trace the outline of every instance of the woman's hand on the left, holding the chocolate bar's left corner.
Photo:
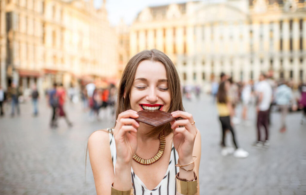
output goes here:
<path id="1" fill-rule="evenodd" d="M 127 110 L 118 115 L 114 129 L 114 139 L 116 143 L 117 163 L 119 164 L 130 164 L 136 153 L 139 123 L 131 118 L 138 117 L 137 112 L 134 110 Z"/>

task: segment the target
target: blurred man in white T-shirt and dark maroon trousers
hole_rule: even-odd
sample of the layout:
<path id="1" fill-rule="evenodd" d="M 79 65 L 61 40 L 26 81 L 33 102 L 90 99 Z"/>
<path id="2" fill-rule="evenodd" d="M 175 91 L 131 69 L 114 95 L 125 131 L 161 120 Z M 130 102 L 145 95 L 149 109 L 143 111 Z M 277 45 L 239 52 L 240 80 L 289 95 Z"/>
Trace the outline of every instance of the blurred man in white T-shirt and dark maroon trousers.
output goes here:
<path id="1" fill-rule="evenodd" d="M 272 88 L 266 80 L 266 75 L 261 73 L 259 83 L 256 85 L 256 94 L 258 96 L 257 110 L 257 142 L 256 146 L 269 146 L 269 108 L 272 101 Z M 260 127 L 265 128 L 266 137 L 262 142 L 260 137 Z"/>

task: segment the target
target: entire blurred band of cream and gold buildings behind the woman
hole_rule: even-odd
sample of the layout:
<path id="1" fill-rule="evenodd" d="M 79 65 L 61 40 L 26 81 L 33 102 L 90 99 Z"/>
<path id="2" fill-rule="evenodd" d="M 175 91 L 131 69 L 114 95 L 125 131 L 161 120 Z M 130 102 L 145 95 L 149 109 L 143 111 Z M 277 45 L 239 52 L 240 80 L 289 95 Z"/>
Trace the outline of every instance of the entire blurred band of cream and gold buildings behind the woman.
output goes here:
<path id="1" fill-rule="evenodd" d="M 116 83 L 129 58 L 156 48 L 174 61 L 184 85 L 221 72 L 235 81 L 260 72 L 306 81 L 304 0 L 187 1 L 144 8 L 112 28 L 106 0 L 2 0 L 0 84 L 40 90 L 92 81 Z"/>

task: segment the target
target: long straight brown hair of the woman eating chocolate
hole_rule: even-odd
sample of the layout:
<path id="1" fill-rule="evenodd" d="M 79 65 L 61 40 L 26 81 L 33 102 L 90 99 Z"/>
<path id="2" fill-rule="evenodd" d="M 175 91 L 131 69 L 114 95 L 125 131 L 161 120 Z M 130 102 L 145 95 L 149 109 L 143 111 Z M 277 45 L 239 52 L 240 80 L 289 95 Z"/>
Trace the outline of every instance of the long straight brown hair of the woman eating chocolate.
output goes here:
<path id="1" fill-rule="evenodd" d="M 181 96 L 181 84 L 180 79 L 177 73 L 177 70 L 173 62 L 166 56 L 165 53 L 162 53 L 159 50 L 144 50 L 137 53 L 133 56 L 127 63 L 121 81 L 118 87 L 118 98 L 117 98 L 117 111 L 116 119 L 121 112 L 131 109 L 130 104 L 130 91 L 132 84 L 134 82 L 134 77 L 136 74 L 136 69 L 138 64 L 141 61 L 150 60 L 161 62 L 166 68 L 166 74 L 168 79 L 168 86 L 170 91 L 170 107 L 168 112 L 173 112 L 176 110 L 184 111 L 182 96 Z M 124 98 L 125 93 L 125 98 Z M 165 135 L 168 135 L 172 132 L 170 128 L 170 123 L 163 125 L 162 127 L 153 128 L 152 131 L 148 134 L 149 137 L 155 137 L 159 135 L 163 130 L 165 130 Z"/>

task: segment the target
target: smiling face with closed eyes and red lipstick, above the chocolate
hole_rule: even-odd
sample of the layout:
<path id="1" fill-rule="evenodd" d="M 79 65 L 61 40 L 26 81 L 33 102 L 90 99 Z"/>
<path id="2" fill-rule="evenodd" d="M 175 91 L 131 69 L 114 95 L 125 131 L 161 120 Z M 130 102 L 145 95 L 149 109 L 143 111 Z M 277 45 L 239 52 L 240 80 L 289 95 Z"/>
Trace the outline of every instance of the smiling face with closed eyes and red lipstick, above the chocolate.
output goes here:
<path id="1" fill-rule="evenodd" d="M 130 101 L 135 111 L 169 110 L 171 97 L 166 68 L 161 62 L 149 60 L 140 62 L 131 88 Z"/>

